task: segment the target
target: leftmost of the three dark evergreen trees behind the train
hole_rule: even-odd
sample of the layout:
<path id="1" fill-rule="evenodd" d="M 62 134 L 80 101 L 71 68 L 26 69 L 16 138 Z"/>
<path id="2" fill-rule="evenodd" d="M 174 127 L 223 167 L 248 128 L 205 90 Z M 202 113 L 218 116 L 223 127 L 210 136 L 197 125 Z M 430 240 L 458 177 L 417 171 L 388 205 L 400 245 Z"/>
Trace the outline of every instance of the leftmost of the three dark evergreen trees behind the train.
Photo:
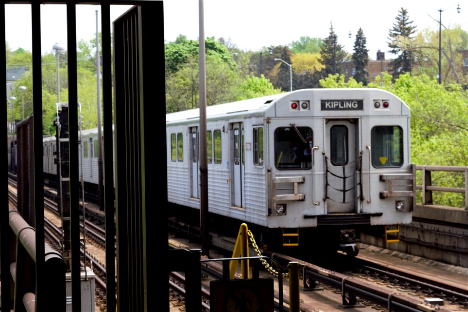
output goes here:
<path id="1" fill-rule="evenodd" d="M 331 25 L 330 35 L 323 39 L 320 46 L 320 63 L 325 66 L 320 73 L 321 78 L 326 78 L 329 74 L 341 74 L 342 72 L 341 64 L 346 58 L 346 52 L 343 50 L 343 46 L 336 42 L 337 39 L 338 36 L 336 36 L 333 25 Z"/>

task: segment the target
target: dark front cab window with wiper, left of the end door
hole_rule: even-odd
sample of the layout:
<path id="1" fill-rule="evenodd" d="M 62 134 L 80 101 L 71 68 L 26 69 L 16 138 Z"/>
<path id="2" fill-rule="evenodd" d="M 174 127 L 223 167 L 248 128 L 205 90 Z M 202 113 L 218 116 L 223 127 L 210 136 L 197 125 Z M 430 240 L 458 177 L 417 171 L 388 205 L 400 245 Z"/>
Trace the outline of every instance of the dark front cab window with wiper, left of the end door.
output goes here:
<path id="1" fill-rule="evenodd" d="M 274 164 L 280 170 L 307 170 L 312 168 L 312 129 L 284 127 L 274 130 Z M 313 142 L 311 142 L 313 143 Z"/>

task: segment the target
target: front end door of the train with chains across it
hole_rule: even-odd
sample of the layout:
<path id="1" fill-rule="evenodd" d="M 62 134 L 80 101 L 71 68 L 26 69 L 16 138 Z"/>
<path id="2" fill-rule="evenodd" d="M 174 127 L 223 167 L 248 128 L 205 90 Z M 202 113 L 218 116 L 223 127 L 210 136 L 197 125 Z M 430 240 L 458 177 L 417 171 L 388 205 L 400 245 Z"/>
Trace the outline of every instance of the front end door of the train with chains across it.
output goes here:
<path id="1" fill-rule="evenodd" d="M 325 197 L 328 213 L 356 212 L 361 168 L 357 119 L 327 119 L 325 125 Z"/>

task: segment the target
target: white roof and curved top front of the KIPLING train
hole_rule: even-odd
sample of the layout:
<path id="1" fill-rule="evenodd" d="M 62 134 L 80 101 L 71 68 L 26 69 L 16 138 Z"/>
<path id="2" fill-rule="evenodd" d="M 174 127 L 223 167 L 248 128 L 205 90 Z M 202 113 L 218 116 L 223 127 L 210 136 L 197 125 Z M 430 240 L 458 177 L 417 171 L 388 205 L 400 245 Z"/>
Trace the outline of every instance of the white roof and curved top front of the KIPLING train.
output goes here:
<path id="1" fill-rule="evenodd" d="M 292 92 L 284 92 L 275 95 L 250 98 L 246 100 L 208 106 L 206 108 L 206 117 L 208 120 L 243 117 L 243 116 L 282 116 L 299 117 L 289 109 L 289 103 L 292 100 L 309 100 L 310 108 L 308 111 L 312 116 L 329 117 L 341 116 L 352 117 L 356 115 L 356 110 L 326 110 L 322 112 L 321 101 L 347 101 L 360 100 L 366 102 L 361 107 L 359 116 L 408 116 L 409 107 L 400 98 L 394 94 L 376 88 L 351 88 L 351 89 L 302 89 Z M 388 109 L 373 111 L 373 102 L 375 100 L 389 100 L 391 105 Z M 275 106 L 276 105 L 276 106 Z M 279 105 L 279 106 L 278 106 Z M 362 104 L 361 104 L 362 105 Z M 273 108 L 272 108 L 273 107 Z M 270 109 L 272 108 L 272 109 Z M 270 110 L 269 110 L 270 109 Z M 268 112 L 267 112 L 268 111 Z M 326 113 L 324 113 L 326 112 Z M 191 109 L 171 114 L 166 114 L 166 124 L 180 124 L 186 122 L 198 122 L 200 109 Z M 294 115 L 296 114 L 296 115 Z M 310 116 L 310 115 L 309 115 Z"/>

